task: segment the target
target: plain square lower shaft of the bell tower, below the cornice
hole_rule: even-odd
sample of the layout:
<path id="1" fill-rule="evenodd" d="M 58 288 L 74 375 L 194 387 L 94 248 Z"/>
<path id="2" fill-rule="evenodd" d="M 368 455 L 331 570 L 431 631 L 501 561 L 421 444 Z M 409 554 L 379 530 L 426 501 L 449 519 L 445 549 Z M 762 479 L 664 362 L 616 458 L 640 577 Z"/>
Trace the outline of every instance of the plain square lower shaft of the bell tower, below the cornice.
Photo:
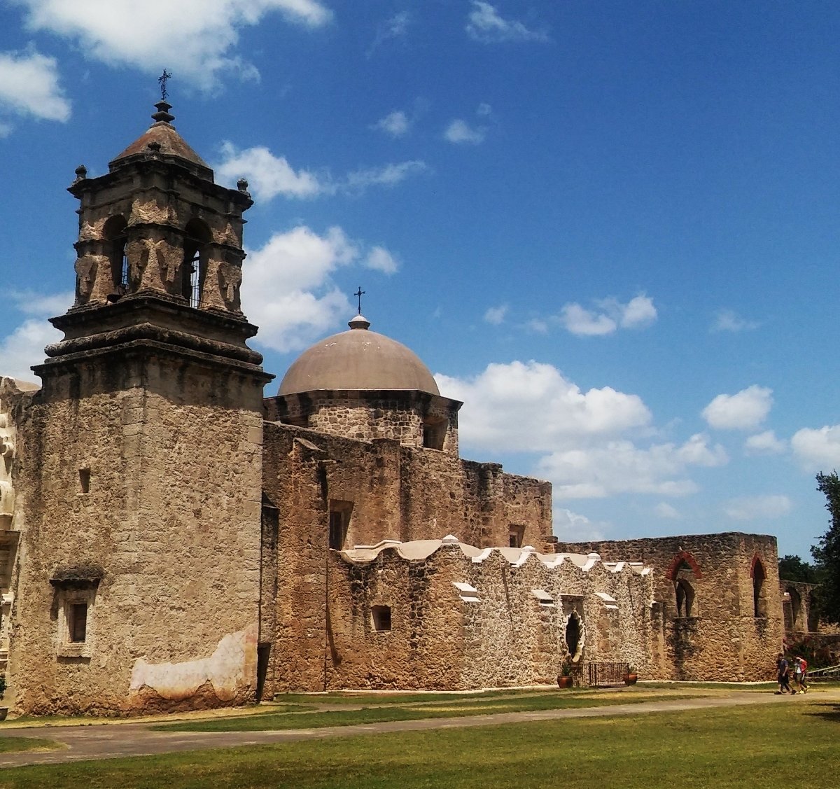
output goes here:
<path id="1" fill-rule="evenodd" d="M 18 433 L 18 711 L 254 696 L 261 383 L 148 349 L 50 371 Z"/>

